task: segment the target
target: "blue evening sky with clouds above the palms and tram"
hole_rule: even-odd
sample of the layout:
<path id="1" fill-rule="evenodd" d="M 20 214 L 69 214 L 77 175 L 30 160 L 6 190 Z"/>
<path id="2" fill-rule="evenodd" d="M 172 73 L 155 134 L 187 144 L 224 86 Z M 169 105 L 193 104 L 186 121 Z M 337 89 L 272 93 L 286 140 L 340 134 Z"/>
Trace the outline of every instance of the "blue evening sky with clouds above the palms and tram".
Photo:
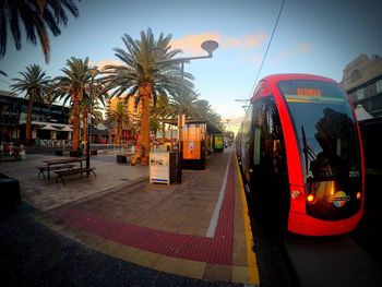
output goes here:
<path id="1" fill-rule="evenodd" d="M 80 17 L 70 16 L 59 37 L 51 37 L 49 64 L 39 45 L 23 43 L 16 51 L 9 35 L 4 58 L 0 59 L 0 89 L 10 91 L 11 79 L 20 77 L 32 63 L 55 77 L 61 75 L 67 59 L 89 57 L 92 64 L 117 63 L 114 48 L 123 48 L 124 34 L 134 39 L 152 28 L 171 34 L 172 48 L 180 57 L 204 56 L 204 40 L 219 44 L 213 58 L 186 63 L 195 77 L 201 99 L 236 130 L 244 104 L 262 77 L 275 73 L 310 73 L 341 82 L 343 70 L 360 53 L 382 56 L 380 0 L 82 0 Z M 25 38 L 25 34 L 23 35 Z M 261 63 L 264 59 L 262 69 Z M 259 76 L 258 76 L 259 75 Z"/>

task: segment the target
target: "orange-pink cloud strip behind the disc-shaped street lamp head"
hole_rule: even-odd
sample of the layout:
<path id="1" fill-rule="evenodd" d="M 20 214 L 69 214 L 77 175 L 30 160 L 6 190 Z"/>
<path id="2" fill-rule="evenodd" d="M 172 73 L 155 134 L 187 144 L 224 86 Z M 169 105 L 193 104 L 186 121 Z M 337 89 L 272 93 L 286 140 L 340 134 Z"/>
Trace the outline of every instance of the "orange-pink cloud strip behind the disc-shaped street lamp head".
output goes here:
<path id="1" fill-rule="evenodd" d="M 222 48 L 258 48 L 267 35 L 264 33 L 248 34 L 242 37 L 227 37 L 219 33 L 205 32 L 201 34 L 186 35 L 181 38 L 171 40 L 172 49 L 181 49 L 184 53 L 199 55 L 203 52 L 201 44 L 205 40 L 216 40 Z"/>

